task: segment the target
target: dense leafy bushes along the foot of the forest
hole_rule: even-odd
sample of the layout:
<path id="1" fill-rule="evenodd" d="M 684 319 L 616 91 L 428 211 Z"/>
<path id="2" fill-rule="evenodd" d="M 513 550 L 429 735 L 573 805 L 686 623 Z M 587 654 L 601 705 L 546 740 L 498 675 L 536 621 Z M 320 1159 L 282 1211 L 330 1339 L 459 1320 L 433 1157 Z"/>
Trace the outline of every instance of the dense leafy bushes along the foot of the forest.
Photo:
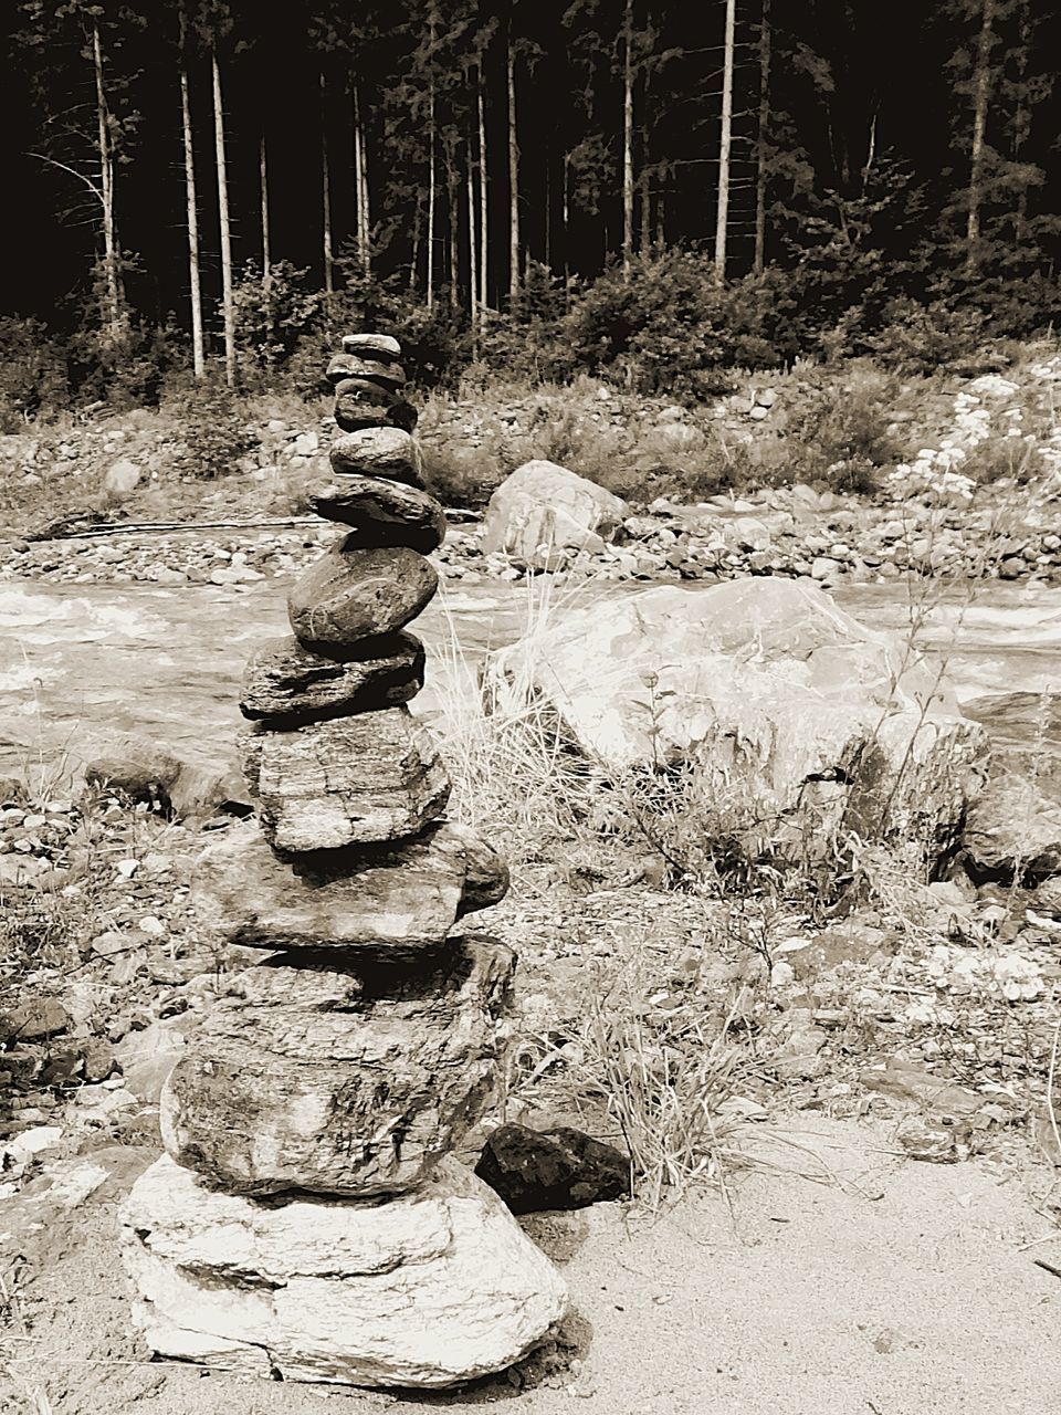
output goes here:
<path id="1" fill-rule="evenodd" d="M 639 255 L 628 275 L 611 266 L 584 286 L 532 263 L 515 307 L 484 311 L 475 330 L 465 310 L 444 299 L 429 310 L 405 279 L 376 279 L 344 253 L 332 296 L 287 262 L 273 265 L 267 283 L 248 265 L 235 289 L 239 383 L 317 395 L 337 335 L 376 328 L 402 341 L 422 389 L 461 379 L 485 386 L 499 375 L 556 383 L 584 372 L 635 393 L 696 402 L 729 391 L 737 371 L 775 369 L 801 355 L 870 355 L 904 374 L 983 372 L 1004 364 L 993 342 L 1027 338 L 1061 317 L 1061 294 L 1043 282 L 999 272 L 970 282 L 944 266 L 917 287 L 911 263 L 891 270 L 871 242 L 863 248 L 822 226 L 821 241 L 789 269 L 729 283 L 688 249 Z M 153 405 L 185 385 L 188 365 L 188 338 L 173 324 L 129 324 L 120 338 L 85 324 L 59 341 L 38 321 L 4 318 L 0 426 L 17 430 L 25 419 L 96 402 Z M 837 432 L 842 441 L 849 432 Z M 871 466 L 874 456 L 863 461 Z"/>

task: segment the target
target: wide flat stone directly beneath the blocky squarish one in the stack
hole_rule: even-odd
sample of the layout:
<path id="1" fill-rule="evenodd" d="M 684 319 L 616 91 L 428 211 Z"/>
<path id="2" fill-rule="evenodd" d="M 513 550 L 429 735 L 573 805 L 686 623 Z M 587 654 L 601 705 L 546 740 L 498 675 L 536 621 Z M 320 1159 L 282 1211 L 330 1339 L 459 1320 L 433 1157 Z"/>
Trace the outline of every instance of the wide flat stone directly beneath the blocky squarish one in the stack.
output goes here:
<path id="1" fill-rule="evenodd" d="M 504 897 L 508 870 L 474 831 L 427 826 L 393 845 L 277 855 L 245 822 L 195 865 L 199 917 L 248 948 L 439 947 L 457 918 Z"/>

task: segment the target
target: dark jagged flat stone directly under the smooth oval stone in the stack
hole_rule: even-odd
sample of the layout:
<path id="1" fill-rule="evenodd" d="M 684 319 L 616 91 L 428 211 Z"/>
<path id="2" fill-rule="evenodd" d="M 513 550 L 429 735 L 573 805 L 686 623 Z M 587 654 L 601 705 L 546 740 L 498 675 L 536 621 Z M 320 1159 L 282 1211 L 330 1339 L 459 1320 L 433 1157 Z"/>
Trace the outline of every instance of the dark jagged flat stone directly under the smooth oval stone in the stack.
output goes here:
<path id="1" fill-rule="evenodd" d="M 294 726 L 409 702 L 423 688 L 424 651 L 413 634 L 355 645 L 356 658 L 328 658 L 297 638 L 267 640 L 243 674 L 239 709 L 252 720 Z"/>

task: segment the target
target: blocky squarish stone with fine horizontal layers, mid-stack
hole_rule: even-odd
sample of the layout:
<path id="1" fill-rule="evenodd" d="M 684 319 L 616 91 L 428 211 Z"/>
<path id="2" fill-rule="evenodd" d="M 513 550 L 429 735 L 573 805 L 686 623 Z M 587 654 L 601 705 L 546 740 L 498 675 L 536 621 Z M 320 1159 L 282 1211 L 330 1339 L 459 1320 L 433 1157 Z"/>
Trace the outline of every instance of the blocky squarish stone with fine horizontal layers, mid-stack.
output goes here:
<path id="1" fill-rule="evenodd" d="M 279 850 L 337 850 L 416 835 L 446 809 L 450 778 L 407 708 L 286 732 L 252 727 L 242 768 Z"/>

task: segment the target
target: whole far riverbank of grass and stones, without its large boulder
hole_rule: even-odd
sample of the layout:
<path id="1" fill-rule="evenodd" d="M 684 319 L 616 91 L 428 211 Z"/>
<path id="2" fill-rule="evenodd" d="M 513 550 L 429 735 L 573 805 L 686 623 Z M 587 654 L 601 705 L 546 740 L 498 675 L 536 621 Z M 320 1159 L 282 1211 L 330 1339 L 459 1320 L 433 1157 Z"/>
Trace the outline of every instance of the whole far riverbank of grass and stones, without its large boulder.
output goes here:
<path id="1" fill-rule="evenodd" d="M 856 362 L 746 382 L 689 405 L 587 378 L 430 396 L 427 475 L 454 509 L 440 567 L 470 583 L 519 573 L 481 553 L 477 518 L 516 466 L 545 458 L 628 502 L 615 542 L 560 570 L 573 579 L 1061 580 L 1055 344 L 965 379 L 900 382 Z M 250 584 L 291 573 L 323 533 L 306 488 L 327 471 L 331 426 L 323 405 L 250 399 L 228 458 L 194 403 L 185 423 L 143 410 L 3 437 L 0 574 Z M 86 535 L 100 526 L 115 533 Z"/>

